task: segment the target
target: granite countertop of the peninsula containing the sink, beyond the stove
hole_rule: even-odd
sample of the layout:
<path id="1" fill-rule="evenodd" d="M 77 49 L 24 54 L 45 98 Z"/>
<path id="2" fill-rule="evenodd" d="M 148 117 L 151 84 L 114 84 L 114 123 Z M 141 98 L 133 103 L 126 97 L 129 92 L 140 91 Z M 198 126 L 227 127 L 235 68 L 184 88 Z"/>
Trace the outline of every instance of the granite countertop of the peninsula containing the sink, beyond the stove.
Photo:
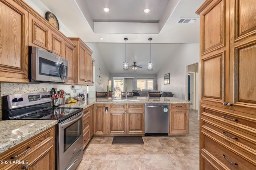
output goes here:
<path id="1" fill-rule="evenodd" d="M 60 105 L 59 107 L 82 107 L 83 109 L 93 105 L 93 104 L 154 104 L 154 103 L 190 103 L 188 100 L 183 100 L 179 98 L 148 98 L 148 97 L 133 97 L 127 98 L 128 100 L 123 100 L 123 98 L 87 98 L 76 103 L 69 103 L 65 105 Z"/>

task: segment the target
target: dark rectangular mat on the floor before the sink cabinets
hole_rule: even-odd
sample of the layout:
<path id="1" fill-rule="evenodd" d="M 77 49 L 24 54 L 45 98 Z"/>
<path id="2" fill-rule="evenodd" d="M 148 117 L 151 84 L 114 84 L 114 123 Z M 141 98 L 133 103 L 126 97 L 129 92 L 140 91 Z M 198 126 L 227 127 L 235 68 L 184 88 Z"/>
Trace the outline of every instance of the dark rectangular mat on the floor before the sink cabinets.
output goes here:
<path id="1" fill-rule="evenodd" d="M 141 136 L 115 136 L 112 145 L 144 145 Z"/>

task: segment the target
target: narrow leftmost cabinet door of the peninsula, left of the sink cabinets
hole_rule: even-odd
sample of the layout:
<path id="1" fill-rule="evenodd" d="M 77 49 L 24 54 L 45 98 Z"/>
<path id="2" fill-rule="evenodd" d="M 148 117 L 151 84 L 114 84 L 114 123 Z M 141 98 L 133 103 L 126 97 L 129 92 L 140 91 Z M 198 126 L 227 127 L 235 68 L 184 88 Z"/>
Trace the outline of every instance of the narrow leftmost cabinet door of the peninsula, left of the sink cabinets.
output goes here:
<path id="1" fill-rule="evenodd" d="M 94 135 L 105 135 L 105 104 L 95 104 L 94 105 Z"/>

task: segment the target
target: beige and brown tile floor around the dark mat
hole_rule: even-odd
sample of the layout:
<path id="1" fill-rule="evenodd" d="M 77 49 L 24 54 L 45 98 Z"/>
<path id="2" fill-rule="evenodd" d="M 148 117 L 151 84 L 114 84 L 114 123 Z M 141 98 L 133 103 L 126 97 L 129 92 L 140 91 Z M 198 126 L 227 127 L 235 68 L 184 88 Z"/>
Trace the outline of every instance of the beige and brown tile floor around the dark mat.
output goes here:
<path id="1" fill-rule="evenodd" d="M 144 145 L 112 145 L 93 137 L 76 170 L 199 170 L 198 110 L 189 110 L 189 134 L 146 136 Z"/>

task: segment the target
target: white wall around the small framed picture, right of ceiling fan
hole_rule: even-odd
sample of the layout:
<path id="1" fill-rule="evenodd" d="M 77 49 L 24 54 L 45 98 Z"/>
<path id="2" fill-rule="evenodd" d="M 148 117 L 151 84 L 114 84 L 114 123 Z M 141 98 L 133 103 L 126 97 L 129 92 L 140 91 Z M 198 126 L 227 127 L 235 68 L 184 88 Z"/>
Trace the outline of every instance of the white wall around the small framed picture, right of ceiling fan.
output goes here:
<path id="1" fill-rule="evenodd" d="M 174 97 L 185 99 L 187 88 L 186 66 L 199 61 L 199 44 L 181 44 L 157 74 L 158 90 L 170 91 Z M 170 84 L 164 84 L 164 74 L 170 72 Z"/>

